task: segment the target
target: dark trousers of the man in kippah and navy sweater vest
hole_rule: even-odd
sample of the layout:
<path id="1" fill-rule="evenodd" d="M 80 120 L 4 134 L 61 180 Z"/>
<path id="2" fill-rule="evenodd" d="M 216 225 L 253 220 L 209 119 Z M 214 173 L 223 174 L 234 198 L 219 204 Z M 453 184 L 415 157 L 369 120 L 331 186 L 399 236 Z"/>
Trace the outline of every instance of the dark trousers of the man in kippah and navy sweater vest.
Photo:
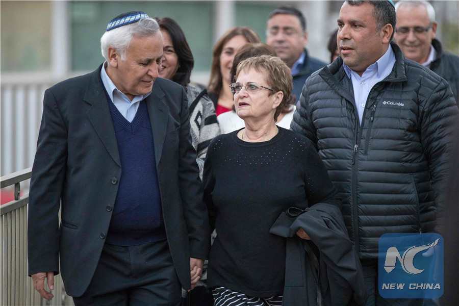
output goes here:
<path id="1" fill-rule="evenodd" d="M 76 306 L 180 305 L 182 285 L 167 240 L 134 246 L 105 244 L 88 289 Z"/>

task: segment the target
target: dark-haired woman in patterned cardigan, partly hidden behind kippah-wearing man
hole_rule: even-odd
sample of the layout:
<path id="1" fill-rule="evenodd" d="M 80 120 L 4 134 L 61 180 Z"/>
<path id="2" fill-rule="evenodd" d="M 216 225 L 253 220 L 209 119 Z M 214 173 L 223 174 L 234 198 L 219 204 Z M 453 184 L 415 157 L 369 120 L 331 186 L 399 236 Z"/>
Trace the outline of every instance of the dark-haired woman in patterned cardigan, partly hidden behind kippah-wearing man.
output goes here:
<path id="1" fill-rule="evenodd" d="M 200 90 L 189 84 L 194 59 L 180 25 L 168 17 L 156 19 L 163 35 L 163 58 L 159 76 L 182 85 L 187 92 L 191 139 L 197 152 L 196 162 L 202 180 L 207 147 L 220 134 L 215 108 L 206 89 Z"/>

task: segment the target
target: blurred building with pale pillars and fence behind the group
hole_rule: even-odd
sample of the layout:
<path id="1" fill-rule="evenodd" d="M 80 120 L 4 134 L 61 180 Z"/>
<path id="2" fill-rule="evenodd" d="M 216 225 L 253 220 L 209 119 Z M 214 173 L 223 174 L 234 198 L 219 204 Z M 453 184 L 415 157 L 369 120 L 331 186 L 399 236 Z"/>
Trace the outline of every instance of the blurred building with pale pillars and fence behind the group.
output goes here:
<path id="1" fill-rule="evenodd" d="M 1 1 L 0 174 L 31 167 L 44 90 L 93 71 L 104 61 L 99 39 L 108 21 L 127 11 L 171 17 L 182 27 L 195 59 L 192 81 L 207 85 L 212 48 L 235 25 L 265 41 L 266 19 L 279 1 Z M 283 1 L 307 18 L 312 56 L 328 61 L 326 43 L 342 1 Z M 459 54 L 459 1 L 431 1 L 437 37 Z M 458 72 L 459 73 L 459 72 Z M 2 200 L 3 202 L 3 200 Z"/>

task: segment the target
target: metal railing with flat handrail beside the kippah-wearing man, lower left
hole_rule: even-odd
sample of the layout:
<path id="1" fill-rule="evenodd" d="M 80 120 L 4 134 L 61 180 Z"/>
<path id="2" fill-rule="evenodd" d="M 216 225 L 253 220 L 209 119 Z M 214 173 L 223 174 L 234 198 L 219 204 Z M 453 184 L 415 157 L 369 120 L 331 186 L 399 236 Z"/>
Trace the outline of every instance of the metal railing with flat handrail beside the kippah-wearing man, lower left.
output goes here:
<path id="1" fill-rule="evenodd" d="M 20 182 L 30 179 L 32 168 L 14 172 L 0 179 L 0 188 L 14 185 L 14 200 L 0 206 L 1 304 L 2 305 L 73 305 L 66 295 L 60 275 L 54 278 L 54 298 L 43 299 L 34 290 L 28 276 L 27 208 L 29 194 L 20 196 Z M 45 285 L 46 286 L 46 285 Z M 47 286 L 46 286 L 47 287 Z M 46 288 L 46 290 L 49 290 Z"/>

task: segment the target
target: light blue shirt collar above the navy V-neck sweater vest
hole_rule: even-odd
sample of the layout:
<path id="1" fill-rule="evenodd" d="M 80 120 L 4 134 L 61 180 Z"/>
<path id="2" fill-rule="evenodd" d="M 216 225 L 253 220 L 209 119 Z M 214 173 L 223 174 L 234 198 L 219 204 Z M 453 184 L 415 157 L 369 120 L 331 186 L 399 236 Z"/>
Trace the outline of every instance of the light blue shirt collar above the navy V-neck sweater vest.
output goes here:
<path id="1" fill-rule="evenodd" d="M 102 83 L 112 99 L 113 104 L 116 106 L 121 115 L 123 115 L 127 121 L 132 122 L 136 116 L 140 101 L 149 96 L 151 92 L 134 96 L 131 101 L 124 93 L 119 91 L 115 84 L 113 84 L 112 80 L 110 80 L 107 71 L 105 71 L 106 65 L 107 62 L 105 62 L 102 69 L 100 69 L 100 78 L 102 79 Z"/>

